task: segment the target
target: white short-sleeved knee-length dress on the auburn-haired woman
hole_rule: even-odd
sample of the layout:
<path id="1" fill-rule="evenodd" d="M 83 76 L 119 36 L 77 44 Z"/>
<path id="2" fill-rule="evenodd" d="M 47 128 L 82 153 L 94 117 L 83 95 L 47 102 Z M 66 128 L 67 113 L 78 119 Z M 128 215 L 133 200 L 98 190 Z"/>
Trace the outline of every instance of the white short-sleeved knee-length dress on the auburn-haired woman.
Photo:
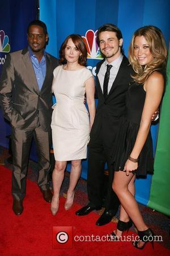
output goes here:
<path id="1" fill-rule="evenodd" d="M 52 89 L 57 101 L 51 123 L 54 158 L 58 161 L 87 158 L 90 120 L 84 93 L 85 82 L 92 73 L 85 67 L 67 71 L 60 65 L 53 75 Z"/>

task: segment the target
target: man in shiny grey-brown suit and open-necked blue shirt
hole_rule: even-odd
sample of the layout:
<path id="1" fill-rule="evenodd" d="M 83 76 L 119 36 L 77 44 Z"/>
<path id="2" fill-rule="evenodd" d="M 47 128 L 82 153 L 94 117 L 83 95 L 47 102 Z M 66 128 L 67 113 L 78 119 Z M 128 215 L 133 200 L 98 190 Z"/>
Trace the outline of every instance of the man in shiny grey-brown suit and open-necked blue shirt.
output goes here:
<path id="1" fill-rule="evenodd" d="M 53 70 L 58 60 L 45 52 L 48 32 L 44 22 L 33 20 L 29 23 L 27 39 L 27 48 L 7 56 L 0 80 L 0 102 L 4 117 L 10 121 L 12 129 L 12 209 L 16 215 L 23 212 L 33 137 L 39 156 L 37 184 L 44 200 L 52 200 L 48 186 L 50 123 Z"/>

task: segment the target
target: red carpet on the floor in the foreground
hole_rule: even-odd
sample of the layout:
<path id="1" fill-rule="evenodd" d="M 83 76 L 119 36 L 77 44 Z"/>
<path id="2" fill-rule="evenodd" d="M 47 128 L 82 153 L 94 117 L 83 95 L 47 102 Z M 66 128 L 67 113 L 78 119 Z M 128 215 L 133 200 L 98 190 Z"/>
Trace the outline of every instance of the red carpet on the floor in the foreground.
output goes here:
<path id="1" fill-rule="evenodd" d="M 24 199 L 24 212 L 21 216 L 15 216 L 11 209 L 11 171 L 0 166 L 0 177 L 0 255 L 169 255 L 169 250 L 158 242 L 154 243 L 154 250 L 150 243 L 147 243 L 144 250 L 137 250 L 131 245 L 131 242 L 74 241 L 74 238 L 78 239 L 77 236 L 81 236 L 80 240 L 83 240 L 83 236 L 88 236 L 87 239 L 90 239 L 89 236 L 92 234 L 100 236 L 100 238 L 106 236 L 115 228 L 115 224 L 110 223 L 97 227 L 95 222 L 99 215 L 90 213 L 88 216 L 75 216 L 75 211 L 80 206 L 74 204 L 73 208 L 66 211 L 63 198 L 60 200 L 57 215 L 52 216 L 50 204 L 42 199 L 40 189 L 29 180 L 27 180 L 27 195 Z M 73 226 L 72 249 L 53 249 L 53 226 Z M 129 232 L 128 235 L 135 234 Z M 66 244 L 60 245 L 66 246 Z"/>

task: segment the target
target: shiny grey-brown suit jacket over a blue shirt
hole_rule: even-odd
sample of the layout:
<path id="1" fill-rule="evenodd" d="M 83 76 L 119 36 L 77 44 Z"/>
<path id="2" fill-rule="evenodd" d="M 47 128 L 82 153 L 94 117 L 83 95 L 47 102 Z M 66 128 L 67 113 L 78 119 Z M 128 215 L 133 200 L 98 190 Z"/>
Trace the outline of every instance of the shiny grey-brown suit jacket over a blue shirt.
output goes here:
<path id="1" fill-rule="evenodd" d="M 46 53 L 46 76 L 39 90 L 28 49 L 8 54 L 0 79 L 0 103 L 12 126 L 25 129 L 39 115 L 42 129 L 49 129 L 53 70 L 57 65 L 58 60 Z"/>

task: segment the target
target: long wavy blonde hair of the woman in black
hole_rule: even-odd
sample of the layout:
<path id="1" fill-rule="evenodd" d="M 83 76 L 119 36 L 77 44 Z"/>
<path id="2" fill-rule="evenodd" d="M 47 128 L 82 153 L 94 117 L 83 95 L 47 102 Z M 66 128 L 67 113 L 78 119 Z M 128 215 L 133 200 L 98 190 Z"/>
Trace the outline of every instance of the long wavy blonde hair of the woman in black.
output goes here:
<path id="1" fill-rule="evenodd" d="M 134 56 L 134 40 L 136 36 L 144 36 L 150 52 L 154 59 L 145 66 L 141 66 Z M 133 79 L 139 84 L 143 84 L 152 72 L 165 69 L 167 63 L 167 47 L 162 31 L 155 26 L 145 26 L 134 32 L 129 47 L 129 62 L 135 71 Z"/>

